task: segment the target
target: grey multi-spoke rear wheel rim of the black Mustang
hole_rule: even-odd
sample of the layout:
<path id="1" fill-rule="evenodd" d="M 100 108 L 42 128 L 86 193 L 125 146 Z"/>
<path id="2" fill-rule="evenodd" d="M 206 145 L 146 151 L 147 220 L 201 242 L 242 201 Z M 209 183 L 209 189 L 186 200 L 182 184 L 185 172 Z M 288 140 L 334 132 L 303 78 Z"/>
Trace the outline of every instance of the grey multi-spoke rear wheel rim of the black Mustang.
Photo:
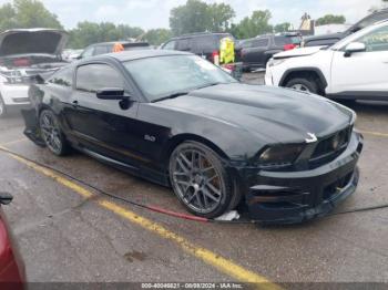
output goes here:
<path id="1" fill-rule="evenodd" d="M 40 116 L 40 128 L 42 137 L 49 149 L 57 155 L 61 155 L 63 147 L 61 131 L 53 113 L 50 111 L 43 111 Z"/>

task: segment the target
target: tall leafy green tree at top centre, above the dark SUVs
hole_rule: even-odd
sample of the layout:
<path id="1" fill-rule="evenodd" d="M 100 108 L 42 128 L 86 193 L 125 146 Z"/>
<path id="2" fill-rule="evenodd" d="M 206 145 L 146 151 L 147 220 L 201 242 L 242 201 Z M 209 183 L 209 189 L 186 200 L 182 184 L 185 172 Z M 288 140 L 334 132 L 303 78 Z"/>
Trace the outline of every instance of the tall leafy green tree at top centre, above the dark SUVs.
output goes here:
<path id="1" fill-rule="evenodd" d="M 228 30 L 235 12 L 224 3 L 207 4 L 201 0 L 187 0 L 170 12 L 170 27 L 174 35 L 192 32 L 221 32 Z"/>

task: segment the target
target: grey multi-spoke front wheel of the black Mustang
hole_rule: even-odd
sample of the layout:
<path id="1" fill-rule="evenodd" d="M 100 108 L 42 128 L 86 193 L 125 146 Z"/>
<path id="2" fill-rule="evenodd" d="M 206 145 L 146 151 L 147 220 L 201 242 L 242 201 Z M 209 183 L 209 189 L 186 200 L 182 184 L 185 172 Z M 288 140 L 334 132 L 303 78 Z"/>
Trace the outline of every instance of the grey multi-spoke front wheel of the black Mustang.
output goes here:
<path id="1" fill-rule="evenodd" d="M 177 151 L 170 164 L 172 186 L 181 201 L 196 214 L 210 214 L 224 200 L 225 180 L 203 151 Z"/>

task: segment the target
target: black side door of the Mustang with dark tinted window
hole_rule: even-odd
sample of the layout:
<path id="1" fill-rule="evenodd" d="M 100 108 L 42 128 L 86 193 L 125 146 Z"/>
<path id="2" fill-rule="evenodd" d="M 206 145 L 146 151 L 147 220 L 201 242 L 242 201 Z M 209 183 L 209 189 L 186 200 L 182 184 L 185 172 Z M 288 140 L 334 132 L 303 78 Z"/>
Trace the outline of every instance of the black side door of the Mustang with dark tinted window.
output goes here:
<path id="1" fill-rule="evenodd" d="M 106 87 L 124 89 L 130 96 L 129 107 L 122 108 L 120 101 L 98 99 L 96 92 Z M 139 100 L 119 68 L 108 63 L 79 66 L 71 102 L 67 121 L 81 147 L 134 168 L 140 166 L 142 157 L 136 151 Z"/>

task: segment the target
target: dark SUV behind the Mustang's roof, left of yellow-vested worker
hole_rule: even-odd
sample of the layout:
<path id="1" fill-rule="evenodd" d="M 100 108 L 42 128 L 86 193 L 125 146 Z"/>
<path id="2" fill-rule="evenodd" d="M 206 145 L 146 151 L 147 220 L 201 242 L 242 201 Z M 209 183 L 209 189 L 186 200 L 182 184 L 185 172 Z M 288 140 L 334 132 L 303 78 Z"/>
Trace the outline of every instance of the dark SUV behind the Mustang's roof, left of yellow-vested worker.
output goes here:
<path id="1" fill-rule="evenodd" d="M 214 63 L 215 58 L 219 56 L 219 44 L 224 38 L 234 40 L 231 33 L 192 33 L 173 38 L 161 49 L 192 52 Z"/>

